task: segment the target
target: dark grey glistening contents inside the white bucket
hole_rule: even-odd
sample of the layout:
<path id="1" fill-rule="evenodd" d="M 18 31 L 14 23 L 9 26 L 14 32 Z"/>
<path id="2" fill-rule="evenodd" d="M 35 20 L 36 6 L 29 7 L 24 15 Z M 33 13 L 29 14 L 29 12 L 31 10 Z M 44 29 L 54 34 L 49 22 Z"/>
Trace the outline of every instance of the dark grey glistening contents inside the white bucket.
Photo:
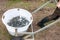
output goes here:
<path id="1" fill-rule="evenodd" d="M 25 17 L 17 16 L 12 18 L 7 24 L 12 27 L 24 27 L 29 24 L 29 21 Z"/>

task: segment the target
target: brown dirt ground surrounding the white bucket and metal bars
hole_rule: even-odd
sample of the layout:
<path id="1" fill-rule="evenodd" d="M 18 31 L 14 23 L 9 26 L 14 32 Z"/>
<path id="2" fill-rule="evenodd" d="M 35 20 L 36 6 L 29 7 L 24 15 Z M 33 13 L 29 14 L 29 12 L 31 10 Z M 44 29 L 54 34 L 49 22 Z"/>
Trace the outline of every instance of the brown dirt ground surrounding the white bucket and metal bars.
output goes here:
<path id="1" fill-rule="evenodd" d="M 5 25 L 2 23 L 2 14 L 11 8 L 24 8 L 32 12 L 35 8 L 39 6 L 39 2 L 33 2 L 32 5 L 30 5 L 28 8 L 21 6 L 19 3 L 9 5 L 8 2 L 0 2 L 0 40 L 10 40 L 11 35 L 7 32 Z M 33 21 L 33 27 L 34 31 L 40 29 L 40 27 L 37 26 L 37 23 L 43 19 L 44 17 L 51 15 L 54 12 L 55 8 L 45 7 L 42 10 L 38 11 L 36 14 L 32 14 L 34 21 Z M 35 35 L 35 40 L 60 40 L 60 22 L 56 23 L 55 25 L 51 26 L 50 28 L 39 32 Z"/>

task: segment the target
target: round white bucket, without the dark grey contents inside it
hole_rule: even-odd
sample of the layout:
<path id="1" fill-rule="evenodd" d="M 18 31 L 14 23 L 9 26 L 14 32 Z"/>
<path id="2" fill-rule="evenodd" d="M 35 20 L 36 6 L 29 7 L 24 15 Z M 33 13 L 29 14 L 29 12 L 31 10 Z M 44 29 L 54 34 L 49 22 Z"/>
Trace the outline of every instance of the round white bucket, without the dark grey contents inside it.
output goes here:
<path id="1" fill-rule="evenodd" d="M 16 27 L 9 26 L 7 23 L 9 22 L 10 19 L 12 19 L 13 17 L 16 17 L 16 16 L 23 16 L 23 17 L 25 17 L 29 21 L 28 25 L 26 25 L 24 27 L 17 27 L 18 34 L 20 34 L 20 32 L 27 31 L 29 26 L 31 25 L 31 23 L 33 21 L 33 17 L 31 15 L 31 13 L 28 12 L 27 10 L 20 9 L 20 8 L 14 8 L 14 9 L 10 9 L 10 10 L 6 11 L 2 15 L 2 22 L 5 24 L 8 32 L 12 36 L 15 36 L 15 29 L 16 29 Z M 21 36 L 21 34 L 19 36 Z"/>

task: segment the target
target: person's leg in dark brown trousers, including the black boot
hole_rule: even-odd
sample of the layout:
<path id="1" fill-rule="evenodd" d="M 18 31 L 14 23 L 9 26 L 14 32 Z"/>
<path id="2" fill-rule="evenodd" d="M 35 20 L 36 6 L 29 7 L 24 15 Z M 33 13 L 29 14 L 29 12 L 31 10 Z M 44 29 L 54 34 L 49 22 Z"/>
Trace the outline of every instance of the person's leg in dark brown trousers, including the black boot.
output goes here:
<path id="1" fill-rule="evenodd" d="M 54 13 L 52 14 L 52 15 L 49 15 L 49 16 L 47 16 L 47 17 L 45 17 L 45 18 L 43 18 L 41 21 L 39 21 L 38 23 L 37 23 L 37 25 L 38 26 L 40 26 L 41 28 L 43 28 L 45 25 L 45 23 L 46 22 L 48 22 L 48 21 L 51 21 L 51 20 L 56 20 L 56 19 L 58 19 L 59 18 L 59 16 L 58 16 L 58 8 L 56 8 L 56 10 L 54 11 Z"/>

